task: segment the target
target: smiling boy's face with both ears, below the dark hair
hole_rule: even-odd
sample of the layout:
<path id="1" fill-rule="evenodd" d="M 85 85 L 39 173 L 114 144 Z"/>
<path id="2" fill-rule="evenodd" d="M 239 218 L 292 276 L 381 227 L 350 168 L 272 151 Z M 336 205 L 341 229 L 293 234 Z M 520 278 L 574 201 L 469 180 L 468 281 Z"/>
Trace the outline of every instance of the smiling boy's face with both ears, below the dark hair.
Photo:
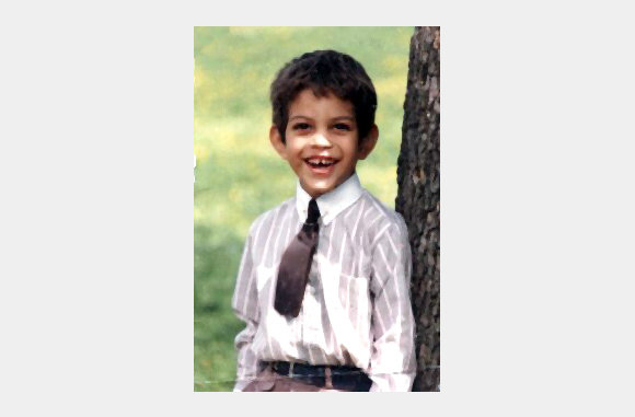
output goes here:
<path id="1" fill-rule="evenodd" d="M 286 143 L 275 126 L 269 139 L 313 198 L 348 179 L 357 161 L 370 154 L 379 136 L 373 125 L 358 146 L 353 104 L 333 94 L 316 97 L 310 89 L 291 102 L 288 119 Z"/>

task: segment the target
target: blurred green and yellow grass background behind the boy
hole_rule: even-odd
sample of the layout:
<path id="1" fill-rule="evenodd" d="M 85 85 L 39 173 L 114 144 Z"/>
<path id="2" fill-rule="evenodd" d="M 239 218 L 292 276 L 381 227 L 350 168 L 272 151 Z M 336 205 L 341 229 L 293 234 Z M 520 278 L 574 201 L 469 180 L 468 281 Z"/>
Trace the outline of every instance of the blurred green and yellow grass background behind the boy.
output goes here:
<path id="1" fill-rule="evenodd" d="M 356 58 L 378 94 L 380 137 L 358 165 L 363 187 L 394 208 L 413 27 L 194 28 L 194 390 L 231 391 L 231 297 L 244 239 L 263 211 L 292 197 L 296 176 L 268 141 L 269 85 L 292 58 L 335 49 Z"/>

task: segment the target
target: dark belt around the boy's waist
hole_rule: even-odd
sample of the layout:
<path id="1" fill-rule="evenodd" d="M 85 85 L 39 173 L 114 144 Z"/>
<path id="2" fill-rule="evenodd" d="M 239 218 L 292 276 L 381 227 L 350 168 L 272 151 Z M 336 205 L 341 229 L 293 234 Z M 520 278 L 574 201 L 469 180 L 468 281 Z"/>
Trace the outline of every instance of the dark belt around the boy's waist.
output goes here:
<path id="1" fill-rule="evenodd" d="M 369 391 L 372 381 L 359 368 L 305 364 L 296 362 L 270 362 L 274 372 L 301 380 L 312 385 L 346 391 Z"/>

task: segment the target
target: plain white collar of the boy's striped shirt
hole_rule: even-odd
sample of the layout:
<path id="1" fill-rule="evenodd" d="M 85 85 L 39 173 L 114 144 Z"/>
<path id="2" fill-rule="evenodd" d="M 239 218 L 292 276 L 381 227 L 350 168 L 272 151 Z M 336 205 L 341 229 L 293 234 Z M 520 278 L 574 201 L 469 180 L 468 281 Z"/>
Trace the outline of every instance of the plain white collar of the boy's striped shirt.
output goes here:
<path id="1" fill-rule="evenodd" d="M 353 173 L 348 179 L 339 184 L 335 189 L 321 195 L 315 199 L 318 208 L 320 208 L 320 218 L 322 224 L 328 224 L 333 219 L 339 215 L 344 209 L 361 197 L 363 188 L 359 184 L 357 173 Z M 307 210 L 311 196 L 302 188 L 300 181 L 296 186 L 296 209 L 301 221 L 307 219 Z"/>

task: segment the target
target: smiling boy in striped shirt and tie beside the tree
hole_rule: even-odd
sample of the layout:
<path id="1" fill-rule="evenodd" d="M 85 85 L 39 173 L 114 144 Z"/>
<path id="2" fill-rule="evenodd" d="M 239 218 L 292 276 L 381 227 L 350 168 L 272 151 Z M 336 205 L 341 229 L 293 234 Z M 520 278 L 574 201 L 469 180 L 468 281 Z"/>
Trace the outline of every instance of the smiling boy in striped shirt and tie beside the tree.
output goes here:
<path id="1" fill-rule="evenodd" d="M 379 136 L 372 82 L 348 55 L 316 50 L 278 72 L 270 100 L 269 139 L 298 185 L 250 229 L 234 391 L 409 391 L 407 230 L 355 172 Z"/>

